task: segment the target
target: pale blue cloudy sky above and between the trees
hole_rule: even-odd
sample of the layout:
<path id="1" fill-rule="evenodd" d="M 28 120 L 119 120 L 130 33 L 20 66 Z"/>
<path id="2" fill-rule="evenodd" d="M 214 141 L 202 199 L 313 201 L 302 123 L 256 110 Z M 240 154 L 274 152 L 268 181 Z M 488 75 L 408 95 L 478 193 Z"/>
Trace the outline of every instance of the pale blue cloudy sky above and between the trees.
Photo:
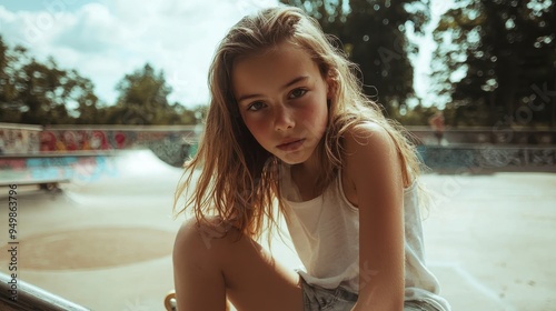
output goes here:
<path id="1" fill-rule="evenodd" d="M 140 3 L 140 4 L 138 4 Z M 0 34 L 39 60 L 92 80 L 102 102 L 116 102 L 118 81 L 149 62 L 172 88 L 170 102 L 208 101 L 207 73 L 219 40 L 242 16 L 276 0 L 0 0 Z M 433 1 L 441 12 L 448 1 Z M 418 39 L 416 39 L 418 40 Z M 425 97 L 431 38 L 420 39 L 416 91 Z"/>

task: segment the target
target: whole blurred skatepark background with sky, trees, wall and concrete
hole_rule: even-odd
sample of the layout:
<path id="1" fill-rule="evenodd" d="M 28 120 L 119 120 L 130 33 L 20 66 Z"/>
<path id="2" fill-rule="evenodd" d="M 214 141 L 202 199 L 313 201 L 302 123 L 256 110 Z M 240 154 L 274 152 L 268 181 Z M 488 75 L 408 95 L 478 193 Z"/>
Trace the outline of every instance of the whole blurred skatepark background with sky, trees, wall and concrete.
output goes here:
<path id="1" fill-rule="evenodd" d="M 435 199 L 427 258 L 454 309 L 554 310 L 555 3 L 282 3 L 339 40 L 417 146 Z M 91 310 L 162 310 L 212 53 L 276 4 L 0 0 L 0 272 L 11 185 L 18 278 Z"/>

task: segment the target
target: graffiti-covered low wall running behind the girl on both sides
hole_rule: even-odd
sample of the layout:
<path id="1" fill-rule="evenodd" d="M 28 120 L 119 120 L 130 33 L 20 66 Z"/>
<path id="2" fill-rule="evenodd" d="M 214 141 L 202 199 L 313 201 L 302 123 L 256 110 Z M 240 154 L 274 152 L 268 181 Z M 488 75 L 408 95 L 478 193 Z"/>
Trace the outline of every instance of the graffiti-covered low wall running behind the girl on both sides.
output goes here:
<path id="1" fill-rule="evenodd" d="M 556 168 L 556 130 L 495 131 L 494 129 L 450 129 L 444 132 L 443 143 L 429 128 L 409 128 L 410 139 L 431 169 L 480 167 L 486 170 L 525 170 Z M 197 152 L 202 127 L 188 126 L 52 126 L 0 123 L 0 160 L 10 159 L 10 168 L 24 168 L 26 174 L 63 179 L 75 170 L 87 168 L 87 161 L 72 156 L 112 156 L 118 150 L 150 149 L 159 159 L 181 167 Z M 446 140 L 446 143 L 444 143 Z M 485 151 L 487 150 L 487 151 Z M 517 150 L 517 151 L 516 151 Z M 500 158 L 502 157 L 502 158 Z M 41 160 L 32 160 L 42 158 Z M 51 158 L 47 160 L 47 158 Z M 66 159 L 63 163 L 53 160 Z M 102 158 L 98 158 L 102 161 Z M 496 162 L 503 159 L 506 162 Z M 23 161 L 23 162 L 21 162 Z M 28 162 L 24 162 L 28 161 Z M 69 161 L 69 162 L 68 162 Z M 92 161 L 92 160 L 89 160 Z M 96 160 L 97 161 L 97 160 Z M 495 161 L 495 162 L 493 162 Z M 502 160 L 500 160 L 502 161 Z M 2 170 L 6 163 L 0 162 Z M 99 163 L 96 163 L 97 165 Z M 95 167 L 92 165 L 92 167 Z M 34 168 L 42 169 L 34 169 Z M 72 167 L 72 173 L 66 172 Z M 89 165 L 91 167 L 91 165 Z M 56 171 L 56 172 L 54 172 Z M 83 171 L 85 172 L 85 171 Z"/>

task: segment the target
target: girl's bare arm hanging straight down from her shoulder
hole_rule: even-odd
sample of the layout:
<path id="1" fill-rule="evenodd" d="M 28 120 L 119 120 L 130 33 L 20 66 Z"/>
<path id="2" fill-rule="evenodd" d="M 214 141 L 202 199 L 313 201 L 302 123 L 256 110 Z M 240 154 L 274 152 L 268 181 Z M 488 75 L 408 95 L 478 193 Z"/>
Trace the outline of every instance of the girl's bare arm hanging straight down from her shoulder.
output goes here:
<path id="1" fill-rule="evenodd" d="M 359 300 L 353 310 L 404 309 L 404 179 L 396 144 L 376 123 L 346 137 L 346 181 L 359 208 Z"/>

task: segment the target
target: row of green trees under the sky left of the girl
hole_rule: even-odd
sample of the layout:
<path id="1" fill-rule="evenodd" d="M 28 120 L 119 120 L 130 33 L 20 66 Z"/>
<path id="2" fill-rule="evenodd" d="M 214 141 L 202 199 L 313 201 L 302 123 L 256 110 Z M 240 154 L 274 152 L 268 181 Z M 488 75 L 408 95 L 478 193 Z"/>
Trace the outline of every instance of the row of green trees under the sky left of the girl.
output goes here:
<path id="1" fill-rule="evenodd" d="M 50 58 L 40 62 L 0 37 L 0 122 L 27 124 L 196 124 L 200 107 L 169 103 L 171 88 L 150 64 L 116 86 L 116 104 L 102 106 L 93 83 Z"/>

